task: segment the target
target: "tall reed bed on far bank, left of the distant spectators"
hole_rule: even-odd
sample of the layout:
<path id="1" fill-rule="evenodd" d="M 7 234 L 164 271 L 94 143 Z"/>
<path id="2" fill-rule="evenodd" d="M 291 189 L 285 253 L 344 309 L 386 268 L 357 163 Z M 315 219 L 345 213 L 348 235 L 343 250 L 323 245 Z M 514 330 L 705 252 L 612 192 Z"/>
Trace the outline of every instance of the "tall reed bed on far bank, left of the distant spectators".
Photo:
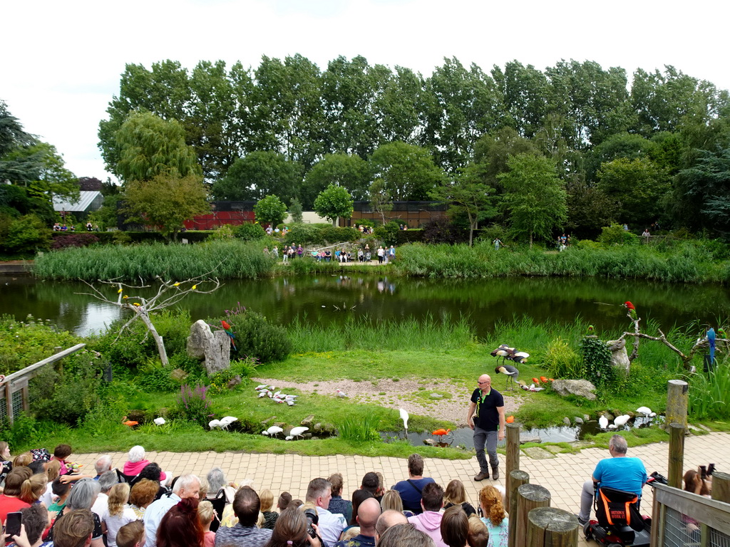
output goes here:
<path id="1" fill-rule="evenodd" d="M 150 244 L 82 247 L 49 252 L 33 268 L 44 279 L 255 279 L 269 274 L 274 260 L 257 243 L 211 241 L 198 245 Z"/>

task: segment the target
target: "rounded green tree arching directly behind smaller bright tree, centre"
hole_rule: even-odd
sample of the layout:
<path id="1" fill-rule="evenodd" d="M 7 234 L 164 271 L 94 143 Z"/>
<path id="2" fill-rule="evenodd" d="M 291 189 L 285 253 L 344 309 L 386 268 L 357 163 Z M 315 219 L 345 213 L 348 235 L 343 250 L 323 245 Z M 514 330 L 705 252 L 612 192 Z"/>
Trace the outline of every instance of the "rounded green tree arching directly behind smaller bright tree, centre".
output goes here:
<path id="1" fill-rule="evenodd" d="M 347 188 L 355 201 L 364 201 L 368 195 L 370 168 L 357 155 L 327 154 L 304 177 L 302 204 L 311 208 L 315 198 L 329 185 Z"/>

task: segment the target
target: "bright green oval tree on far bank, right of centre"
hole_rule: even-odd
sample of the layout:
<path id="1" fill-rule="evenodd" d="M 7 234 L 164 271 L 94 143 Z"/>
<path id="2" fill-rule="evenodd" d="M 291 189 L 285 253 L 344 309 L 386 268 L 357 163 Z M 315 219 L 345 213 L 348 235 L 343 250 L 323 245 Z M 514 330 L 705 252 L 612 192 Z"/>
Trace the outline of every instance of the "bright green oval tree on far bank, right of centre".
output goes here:
<path id="1" fill-rule="evenodd" d="M 499 174 L 504 185 L 502 204 L 517 236 L 550 239 L 553 229 L 567 220 L 566 191 L 556 166 L 548 158 L 518 154 L 507 161 L 509 171 Z"/>

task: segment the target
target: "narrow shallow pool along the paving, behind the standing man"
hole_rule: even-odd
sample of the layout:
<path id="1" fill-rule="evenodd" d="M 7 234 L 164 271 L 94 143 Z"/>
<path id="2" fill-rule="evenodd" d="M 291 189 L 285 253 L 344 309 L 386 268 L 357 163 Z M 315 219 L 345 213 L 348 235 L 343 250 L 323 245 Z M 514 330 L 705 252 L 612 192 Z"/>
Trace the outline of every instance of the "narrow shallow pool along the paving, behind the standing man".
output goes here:
<path id="1" fill-rule="evenodd" d="M 628 431 L 634 427 L 649 427 L 650 424 L 659 423 L 656 418 L 648 419 L 637 417 L 636 419 L 628 422 L 623 427 L 619 427 L 616 430 L 606 431 Z M 575 425 L 563 425 L 556 427 L 547 427 L 541 429 L 530 429 L 520 430 L 520 443 L 572 443 L 574 441 L 583 441 L 588 435 L 596 435 L 596 433 L 602 432 L 599 424 L 596 420 L 589 420 L 583 422 L 583 424 Z M 384 431 L 380 432 L 380 437 L 384 441 L 393 438 L 404 438 L 403 431 Z M 469 427 L 459 427 L 456 430 L 452 430 L 448 435 L 434 435 L 431 431 L 409 431 L 407 435 L 408 441 L 413 446 L 421 446 L 423 444 L 430 444 L 434 441 L 435 446 L 466 446 L 467 449 L 474 446 L 473 442 L 474 432 Z M 505 446 L 507 441 L 498 443 L 497 446 Z"/>

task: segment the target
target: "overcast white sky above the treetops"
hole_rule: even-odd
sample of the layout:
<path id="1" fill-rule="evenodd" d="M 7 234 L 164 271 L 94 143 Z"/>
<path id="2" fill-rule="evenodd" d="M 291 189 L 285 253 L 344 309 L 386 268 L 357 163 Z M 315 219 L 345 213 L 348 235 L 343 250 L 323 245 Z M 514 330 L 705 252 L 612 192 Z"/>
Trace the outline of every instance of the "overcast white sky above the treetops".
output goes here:
<path id="1" fill-rule="evenodd" d="M 444 57 L 485 71 L 516 59 L 674 65 L 730 88 L 730 3 L 721 0 L 70 0 L 3 9 L 0 99 L 26 131 L 54 144 L 77 176 L 106 179 L 99 120 L 125 63 L 172 59 L 258 66 L 300 53 L 326 69 L 338 55 L 423 76 Z"/>

